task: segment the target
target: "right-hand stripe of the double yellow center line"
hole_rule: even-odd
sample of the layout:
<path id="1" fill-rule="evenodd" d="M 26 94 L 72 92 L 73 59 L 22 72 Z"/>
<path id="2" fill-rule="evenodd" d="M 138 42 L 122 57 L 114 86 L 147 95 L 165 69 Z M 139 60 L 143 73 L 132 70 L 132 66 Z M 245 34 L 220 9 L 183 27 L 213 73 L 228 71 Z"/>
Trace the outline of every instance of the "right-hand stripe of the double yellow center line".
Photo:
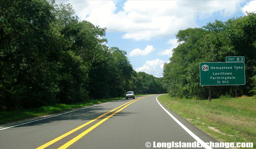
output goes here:
<path id="1" fill-rule="evenodd" d="M 145 98 L 145 97 L 142 97 Z M 140 99 L 142 99 L 140 98 Z M 136 99 L 135 101 L 138 101 L 140 99 Z M 113 115 L 115 115 L 116 113 L 120 112 L 121 110 L 123 110 L 124 108 L 126 108 L 128 105 L 134 103 L 135 101 L 127 104 L 126 106 L 124 106 L 123 108 L 117 110 L 116 112 L 114 112 L 113 114 L 107 116 L 106 118 L 102 119 L 101 121 L 99 121 L 97 124 L 91 126 L 90 128 L 88 128 L 86 131 L 84 131 L 83 133 L 79 134 L 78 136 L 76 136 L 75 138 L 73 138 L 72 140 L 70 140 L 69 142 L 66 142 L 64 145 L 62 145 L 61 147 L 59 147 L 58 149 L 66 149 L 67 147 L 69 147 L 71 144 L 73 144 L 74 142 L 76 142 L 77 140 L 81 139 L 84 135 L 86 135 L 87 133 L 89 133 L 90 131 L 92 131 L 94 128 L 96 128 L 97 126 L 99 126 L 100 124 L 102 124 L 104 121 L 106 121 L 107 119 L 109 119 L 110 117 L 112 117 Z"/>

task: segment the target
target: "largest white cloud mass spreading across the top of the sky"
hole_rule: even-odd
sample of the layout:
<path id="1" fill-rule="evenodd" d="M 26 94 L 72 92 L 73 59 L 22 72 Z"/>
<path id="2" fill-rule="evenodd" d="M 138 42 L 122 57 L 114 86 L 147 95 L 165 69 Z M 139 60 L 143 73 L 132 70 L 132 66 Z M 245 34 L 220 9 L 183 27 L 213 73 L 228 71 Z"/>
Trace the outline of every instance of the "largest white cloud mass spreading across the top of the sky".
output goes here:
<path id="1" fill-rule="evenodd" d="M 66 1 L 64 1 L 66 2 Z M 196 20 L 214 13 L 234 14 L 238 0 L 128 0 L 123 11 L 116 12 L 117 1 L 70 0 L 81 20 L 87 20 L 107 32 L 125 32 L 124 39 L 149 40 L 174 36 L 179 30 L 198 27 Z"/>

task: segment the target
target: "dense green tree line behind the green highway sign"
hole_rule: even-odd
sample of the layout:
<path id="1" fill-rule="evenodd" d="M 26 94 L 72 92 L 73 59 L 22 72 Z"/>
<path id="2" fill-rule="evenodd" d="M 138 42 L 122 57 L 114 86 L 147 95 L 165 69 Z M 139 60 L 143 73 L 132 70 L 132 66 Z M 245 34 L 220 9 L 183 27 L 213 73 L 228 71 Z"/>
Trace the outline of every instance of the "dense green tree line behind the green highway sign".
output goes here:
<path id="1" fill-rule="evenodd" d="M 188 28 L 176 34 L 179 46 L 164 65 L 164 87 L 171 96 L 207 99 L 208 87 L 199 84 L 200 62 L 225 62 L 226 56 L 244 56 L 246 85 L 238 94 L 256 93 L 256 14 L 216 20 L 203 28 Z M 213 98 L 234 96 L 235 86 L 212 86 Z"/>

